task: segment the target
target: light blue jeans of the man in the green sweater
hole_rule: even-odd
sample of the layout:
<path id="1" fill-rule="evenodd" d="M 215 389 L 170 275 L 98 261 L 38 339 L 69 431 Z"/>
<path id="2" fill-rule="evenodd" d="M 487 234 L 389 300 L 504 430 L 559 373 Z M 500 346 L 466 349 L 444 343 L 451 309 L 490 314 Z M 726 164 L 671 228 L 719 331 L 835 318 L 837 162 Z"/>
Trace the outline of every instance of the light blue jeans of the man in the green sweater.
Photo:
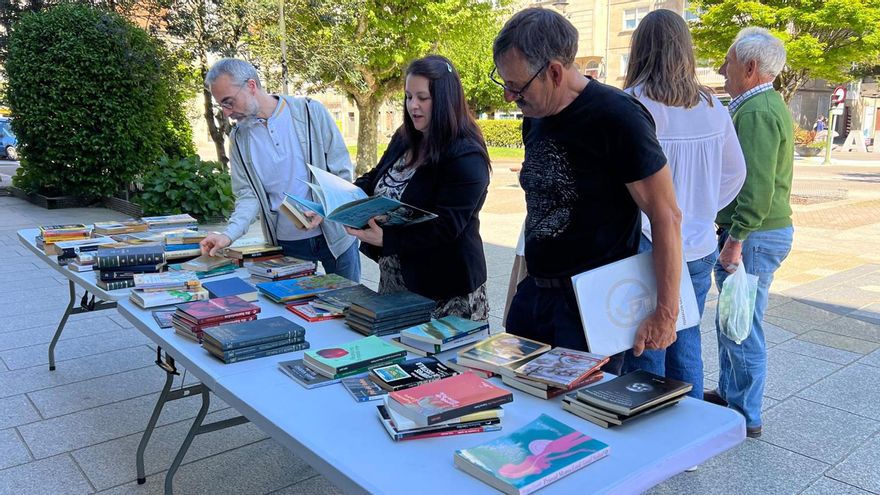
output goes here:
<path id="1" fill-rule="evenodd" d="M 737 345 L 721 335 L 718 314 L 715 314 L 715 330 L 718 334 L 718 394 L 729 407 L 746 418 L 746 426 L 761 426 L 761 402 L 764 397 L 764 381 L 767 378 L 767 346 L 764 342 L 764 311 L 770 297 L 773 274 L 791 251 L 794 229 L 785 227 L 775 230 L 752 232 L 743 242 L 743 263 L 746 272 L 758 276 L 758 294 L 755 298 L 755 314 L 749 336 Z M 728 233 L 721 231 L 719 248 L 724 246 Z M 715 265 L 715 283 L 718 291 L 724 286 L 729 274 L 720 264 Z"/>

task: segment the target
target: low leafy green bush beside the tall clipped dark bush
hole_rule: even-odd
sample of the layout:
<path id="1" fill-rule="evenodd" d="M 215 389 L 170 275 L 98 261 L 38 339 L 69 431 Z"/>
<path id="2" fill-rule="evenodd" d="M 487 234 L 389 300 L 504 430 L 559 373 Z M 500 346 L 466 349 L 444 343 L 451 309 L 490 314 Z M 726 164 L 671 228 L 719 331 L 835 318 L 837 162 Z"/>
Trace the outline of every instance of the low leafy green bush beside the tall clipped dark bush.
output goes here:
<path id="1" fill-rule="evenodd" d="M 198 156 L 163 157 L 148 168 L 135 198 L 144 215 L 189 213 L 205 217 L 228 217 L 234 199 L 229 171 L 220 162 L 203 162 Z"/>

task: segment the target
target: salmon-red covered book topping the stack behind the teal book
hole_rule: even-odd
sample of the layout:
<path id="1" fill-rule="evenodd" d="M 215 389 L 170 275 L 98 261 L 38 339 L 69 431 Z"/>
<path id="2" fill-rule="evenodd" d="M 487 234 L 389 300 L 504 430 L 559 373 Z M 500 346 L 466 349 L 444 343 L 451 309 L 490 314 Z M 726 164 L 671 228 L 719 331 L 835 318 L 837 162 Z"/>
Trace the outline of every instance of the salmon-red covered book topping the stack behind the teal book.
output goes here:
<path id="1" fill-rule="evenodd" d="M 513 401 L 509 390 L 466 372 L 388 394 L 388 407 L 419 426 L 448 421 Z"/>

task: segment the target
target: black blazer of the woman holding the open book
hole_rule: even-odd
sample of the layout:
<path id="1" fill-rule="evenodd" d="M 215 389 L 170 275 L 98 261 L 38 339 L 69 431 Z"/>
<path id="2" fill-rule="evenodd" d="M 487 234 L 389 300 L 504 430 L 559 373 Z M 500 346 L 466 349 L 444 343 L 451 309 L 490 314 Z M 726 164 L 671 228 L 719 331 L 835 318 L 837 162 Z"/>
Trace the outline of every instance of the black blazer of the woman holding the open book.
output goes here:
<path id="1" fill-rule="evenodd" d="M 480 209 L 489 187 L 489 164 L 479 145 L 458 140 L 438 163 L 420 166 L 400 200 L 438 218 L 409 226 L 383 228 L 381 248 L 361 243 L 373 260 L 396 254 L 407 289 L 434 300 L 464 296 L 486 282 L 486 257 L 480 238 Z M 368 195 L 407 150 L 395 134 L 379 164 L 355 181 Z"/>

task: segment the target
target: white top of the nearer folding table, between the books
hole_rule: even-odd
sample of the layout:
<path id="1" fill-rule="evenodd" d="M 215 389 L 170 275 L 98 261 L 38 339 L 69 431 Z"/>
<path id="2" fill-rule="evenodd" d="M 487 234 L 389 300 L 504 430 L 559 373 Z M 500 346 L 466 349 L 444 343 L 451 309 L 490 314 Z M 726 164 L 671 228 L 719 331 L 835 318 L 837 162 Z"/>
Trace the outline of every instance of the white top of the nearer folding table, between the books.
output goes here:
<path id="1" fill-rule="evenodd" d="M 246 275 L 241 271 L 239 276 Z M 260 304 L 260 318 L 284 315 L 305 327 L 313 349 L 361 337 L 340 320 L 308 323 L 262 296 Z M 561 398 L 542 400 L 514 390 L 513 403 L 504 406 L 501 431 L 395 443 L 377 419 L 378 402 L 357 403 L 338 384 L 307 390 L 278 369 L 279 361 L 297 359 L 302 351 L 227 365 L 172 329 L 159 329 L 150 311 L 127 300 L 118 309 L 217 396 L 345 492 L 494 493 L 454 467 L 455 450 L 505 435 L 541 413 L 611 446 L 607 458 L 541 490 L 548 495 L 639 493 L 745 438 L 742 416 L 690 398 L 604 429 L 562 410 Z M 504 387 L 499 379 L 493 381 Z"/>

